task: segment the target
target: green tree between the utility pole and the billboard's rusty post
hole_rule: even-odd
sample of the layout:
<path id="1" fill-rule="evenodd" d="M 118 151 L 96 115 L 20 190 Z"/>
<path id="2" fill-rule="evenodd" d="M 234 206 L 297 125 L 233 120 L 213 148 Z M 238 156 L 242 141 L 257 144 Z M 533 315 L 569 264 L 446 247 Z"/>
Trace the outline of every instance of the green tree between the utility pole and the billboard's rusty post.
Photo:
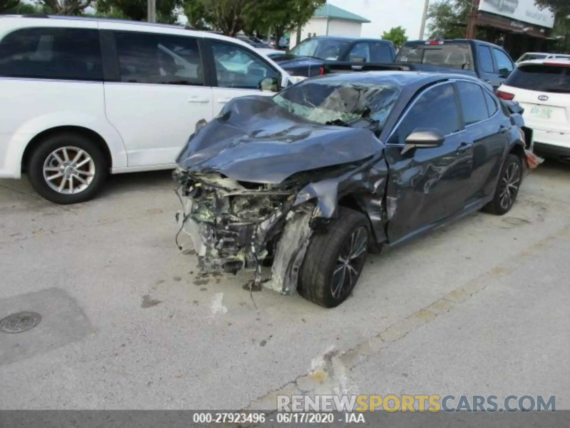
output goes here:
<path id="1" fill-rule="evenodd" d="M 471 0 L 439 0 L 432 3 L 427 11 L 427 18 L 431 21 L 427 26 L 430 38 L 465 38 L 471 3 Z"/>

